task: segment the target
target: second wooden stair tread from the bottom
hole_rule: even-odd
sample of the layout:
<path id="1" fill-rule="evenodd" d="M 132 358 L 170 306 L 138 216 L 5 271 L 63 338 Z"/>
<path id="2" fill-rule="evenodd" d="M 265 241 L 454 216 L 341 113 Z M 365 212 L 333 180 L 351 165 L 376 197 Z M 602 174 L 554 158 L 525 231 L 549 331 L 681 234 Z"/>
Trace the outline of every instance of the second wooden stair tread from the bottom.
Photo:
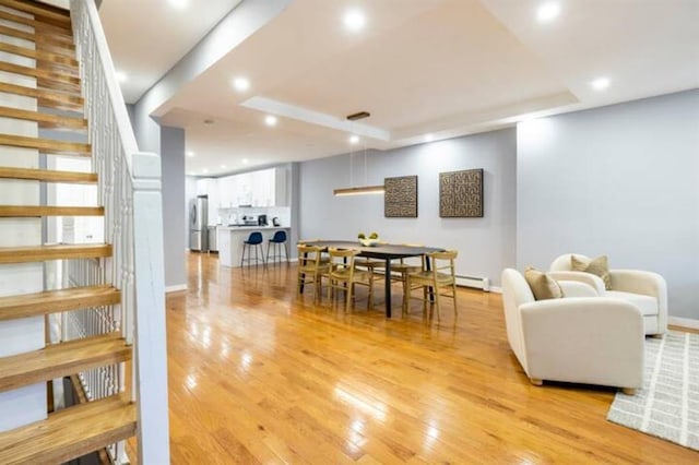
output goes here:
<path id="1" fill-rule="evenodd" d="M 103 334 L 39 350 L 0 358 L 0 392 L 54 380 L 131 357 L 131 346 L 119 333 Z"/>

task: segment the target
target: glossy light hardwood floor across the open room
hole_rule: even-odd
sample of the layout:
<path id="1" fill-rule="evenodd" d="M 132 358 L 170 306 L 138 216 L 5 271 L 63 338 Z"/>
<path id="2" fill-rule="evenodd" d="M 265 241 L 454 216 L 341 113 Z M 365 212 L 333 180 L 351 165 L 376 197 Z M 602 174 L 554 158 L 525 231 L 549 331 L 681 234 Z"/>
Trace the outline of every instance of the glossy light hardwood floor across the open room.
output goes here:
<path id="1" fill-rule="evenodd" d="M 167 297 L 174 464 L 699 463 L 606 421 L 613 390 L 531 385 L 497 294 L 460 289 L 439 325 L 419 302 L 387 321 L 362 290 L 352 313 L 297 298 L 294 265 L 188 266 Z"/>

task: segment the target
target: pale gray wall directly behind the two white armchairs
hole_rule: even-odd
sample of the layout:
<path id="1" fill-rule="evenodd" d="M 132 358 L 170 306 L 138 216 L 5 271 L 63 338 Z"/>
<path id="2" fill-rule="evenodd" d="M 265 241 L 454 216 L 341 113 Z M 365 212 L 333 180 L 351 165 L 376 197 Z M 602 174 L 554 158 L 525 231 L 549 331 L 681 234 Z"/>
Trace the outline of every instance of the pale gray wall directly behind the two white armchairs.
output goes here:
<path id="1" fill-rule="evenodd" d="M 518 126 L 517 263 L 607 254 L 699 318 L 699 91 Z"/>

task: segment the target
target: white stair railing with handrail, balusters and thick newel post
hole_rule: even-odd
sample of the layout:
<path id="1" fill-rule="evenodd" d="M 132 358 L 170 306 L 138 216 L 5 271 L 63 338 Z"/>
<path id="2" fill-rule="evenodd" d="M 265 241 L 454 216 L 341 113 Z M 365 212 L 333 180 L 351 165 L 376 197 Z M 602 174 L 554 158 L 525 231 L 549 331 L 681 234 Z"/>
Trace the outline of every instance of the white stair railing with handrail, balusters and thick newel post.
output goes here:
<path id="1" fill-rule="evenodd" d="M 140 152 L 94 0 L 71 0 L 93 170 L 112 245 L 105 279 L 119 288 L 120 329 L 133 344 L 139 462 L 169 463 L 161 159 Z"/>

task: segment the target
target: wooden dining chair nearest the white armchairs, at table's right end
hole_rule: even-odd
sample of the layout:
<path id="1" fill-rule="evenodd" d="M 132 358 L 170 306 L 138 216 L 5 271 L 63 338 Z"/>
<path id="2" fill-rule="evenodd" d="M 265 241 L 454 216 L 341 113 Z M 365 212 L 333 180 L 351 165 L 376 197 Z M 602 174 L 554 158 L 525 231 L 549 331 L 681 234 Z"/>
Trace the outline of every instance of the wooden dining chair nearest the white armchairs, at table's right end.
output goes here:
<path id="1" fill-rule="evenodd" d="M 454 260 L 459 254 L 455 250 L 445 252 L 433 252 L 425 257 L 425 267 L 422 271 L 408 273 L 406 281 L 407 294 L 403 298 L 403 313 L 410 310 L 411 299 L 423 300 L 423 311 L 427 311 L 427 302 L 437 307 L 437 321 L 441 320 L 440 298 L 451 297 L 454 299 L 454 317 L 459 314 L 457 310 L 457 275 Z M 426 261 L 430 261 L 431 269 L 426 269 Z M 413 297 L 413 290 L 420 289 L 422 298 Z"/>

